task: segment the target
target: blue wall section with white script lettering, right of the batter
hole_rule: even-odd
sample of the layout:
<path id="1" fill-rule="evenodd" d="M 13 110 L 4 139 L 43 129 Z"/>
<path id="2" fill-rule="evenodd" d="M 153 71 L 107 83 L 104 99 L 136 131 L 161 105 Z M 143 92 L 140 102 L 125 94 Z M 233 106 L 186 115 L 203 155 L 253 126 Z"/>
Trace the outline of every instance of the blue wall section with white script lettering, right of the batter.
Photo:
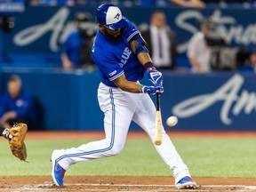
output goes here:
<path id="1" fill-rule="evenodd" d="M 164 124 L 174 115 L 179 118 L 174 130 L 255 130 L 255 77 L 253 73 L 164 74 Z"/>

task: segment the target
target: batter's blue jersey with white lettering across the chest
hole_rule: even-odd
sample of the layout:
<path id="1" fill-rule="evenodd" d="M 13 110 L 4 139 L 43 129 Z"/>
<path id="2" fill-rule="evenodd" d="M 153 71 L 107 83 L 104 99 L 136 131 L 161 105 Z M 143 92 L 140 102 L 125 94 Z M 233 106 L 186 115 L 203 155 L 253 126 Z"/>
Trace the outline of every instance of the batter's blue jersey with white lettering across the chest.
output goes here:
<path id="1" fill-rule="evenodd" d="M 124 20 L 126 26 L 122 40 L 110 41 L 98 30 L 92 46 L 92 58 L 98 66 L 101 82 L 111 87 L 116 87 L 112 81 L 123 74 L 132 82 L 144 76 L 144 68 L 128 43 L 132 36 L 140 32 L 130 20 Z"/>

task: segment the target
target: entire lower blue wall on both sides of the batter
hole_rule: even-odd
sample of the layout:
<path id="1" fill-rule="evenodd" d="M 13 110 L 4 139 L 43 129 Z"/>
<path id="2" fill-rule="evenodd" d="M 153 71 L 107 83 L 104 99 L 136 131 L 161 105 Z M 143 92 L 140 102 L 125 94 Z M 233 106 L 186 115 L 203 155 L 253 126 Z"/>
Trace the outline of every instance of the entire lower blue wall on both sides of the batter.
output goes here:
<path id="1" fill-rule="evenodd" d="M 47 130 L 103 130 L 97 100 L 97 72 L 4 69 L 19 74 L 23 86 L 40 104 L 42 128 Z M 256 81 L 253 73 L 191 74 L 163 71 L 163 124 L 177 116 L 176 131 L 256 131 Z M 149 84 L 143 79 L 143 84 Z M 155 102 L 155 96 L 152 96 Z M 131 130 L 141 130 L 137 124 Z"/>

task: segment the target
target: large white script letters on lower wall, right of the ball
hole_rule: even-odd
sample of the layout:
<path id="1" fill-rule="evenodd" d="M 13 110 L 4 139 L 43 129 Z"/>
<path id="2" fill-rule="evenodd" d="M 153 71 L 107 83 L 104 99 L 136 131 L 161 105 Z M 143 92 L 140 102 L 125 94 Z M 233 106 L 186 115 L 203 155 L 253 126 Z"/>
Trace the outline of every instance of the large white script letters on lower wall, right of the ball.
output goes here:
<path id="1" fill-rule="evenodd" d="M 184 118 L 196 116 L 217 102 L 223 102 L 220 108 L 220 120 L 223 124 L 232 124 L 229 114 L 238 116 L 244 111 L 248 115 L 253 110 L 256 111 L 256 93 L 241 90 L 243 84 L 244 77 L 236 74 L 215 92 L 181 101 L 172 108 L 172 113 Z M 240 95 L 239 92 L 241 92 Z"/>

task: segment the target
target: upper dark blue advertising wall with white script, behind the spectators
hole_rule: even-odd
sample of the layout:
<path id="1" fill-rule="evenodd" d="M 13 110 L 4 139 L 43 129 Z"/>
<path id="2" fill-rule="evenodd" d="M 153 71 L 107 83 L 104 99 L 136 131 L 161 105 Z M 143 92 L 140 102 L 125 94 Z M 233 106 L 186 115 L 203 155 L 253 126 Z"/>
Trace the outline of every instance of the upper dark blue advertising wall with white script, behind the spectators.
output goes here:
<path id="1" fill-rule="evenodd" d="M 12 32 L 4 34 L 4 61 L 20 61 L 19 56 L 22 54 L 30 54 L 30 58 L 23 60 L 28 62 L 37 61 L 32 57 L 33 54 L 36 54 L 39 61 L 60 61 L 58 59 L 61 45 L 74 28 L 72 21 L 75 12 L 86 11 L 94 14 L 95 9 L 96 7 L 26 7 L 25 12 L 15 18 L 15 28 Z M 220 9 L 211 6 L 204 10 L 180 7 L 160 9 L 166 13 L 168 24 L 176 32 L 180 54 L 186 53 L 189 38 L 198 30 L 198 19 L 205 16 L 212 17 L 217 22 L 219 30 L 230 46 L 246 50 L 255 49 L 254 8 Z M 145 28 L 149 23 L 150 14 L 156 11 L 156 8 L 124 7 L 122 11 L 138 28 Z M 92 25 L 92 28 L 97 29 L 97 25 Z"/>

